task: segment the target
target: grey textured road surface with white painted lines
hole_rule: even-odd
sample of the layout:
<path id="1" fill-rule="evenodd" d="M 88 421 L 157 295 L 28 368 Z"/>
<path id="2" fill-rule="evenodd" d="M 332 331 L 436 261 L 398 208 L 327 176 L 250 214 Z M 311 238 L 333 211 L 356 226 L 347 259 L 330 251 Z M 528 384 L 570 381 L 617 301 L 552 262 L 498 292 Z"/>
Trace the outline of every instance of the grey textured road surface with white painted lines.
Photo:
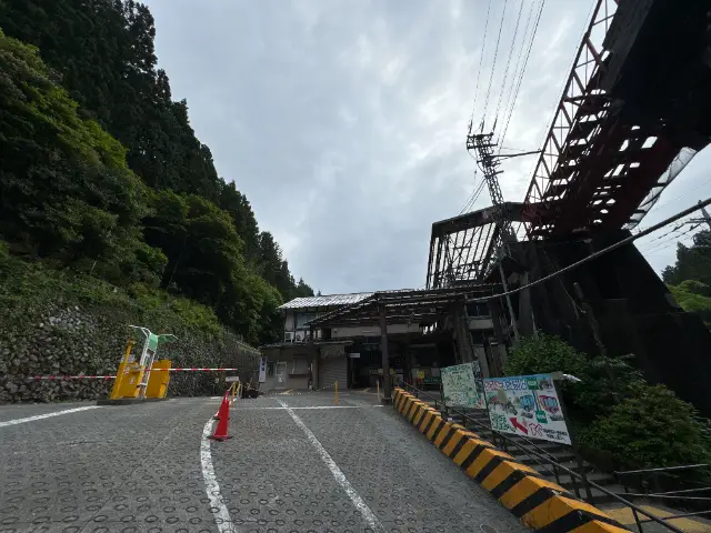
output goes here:
<path id="1" fill-rule="evenodd" d="M 0 406 L 0 532 L 525 530 L 374 394 L 218 404 Z"/>

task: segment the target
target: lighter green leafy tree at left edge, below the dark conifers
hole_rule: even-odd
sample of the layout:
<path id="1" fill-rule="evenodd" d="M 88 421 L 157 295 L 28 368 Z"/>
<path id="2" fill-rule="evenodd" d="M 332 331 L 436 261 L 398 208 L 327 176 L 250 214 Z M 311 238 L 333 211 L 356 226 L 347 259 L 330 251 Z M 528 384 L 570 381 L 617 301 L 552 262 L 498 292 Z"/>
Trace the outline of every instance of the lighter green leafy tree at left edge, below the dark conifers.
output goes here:
<path id="1" fill-rule="evenodd" d="M 36 49 L 2 32 L 0 102 L 0 233 L 16 251 L 72 264 L 150 255 L 148 271 L 160 269 L 141 242 L 147 190 L 123 147 L 79 117 Z"/>

